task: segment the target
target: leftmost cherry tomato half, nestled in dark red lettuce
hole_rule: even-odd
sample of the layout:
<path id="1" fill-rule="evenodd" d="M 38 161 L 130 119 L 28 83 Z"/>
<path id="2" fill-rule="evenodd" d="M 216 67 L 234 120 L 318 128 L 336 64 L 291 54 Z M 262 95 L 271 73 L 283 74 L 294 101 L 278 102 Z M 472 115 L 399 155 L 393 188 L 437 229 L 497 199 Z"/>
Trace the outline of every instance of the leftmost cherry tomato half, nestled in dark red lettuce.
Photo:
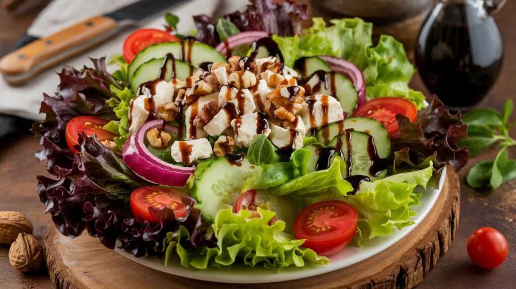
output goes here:
<path id="1" fill-rule="evenodd" d="M 72 118 L 66 126 L 66 143 L 70 150 L 75 154 L 77 150 L 73 147 L 79 144 L 79 132 L 84 131 L 90 137 L 95 134 L 99 141 L 113 140 L 116 135 L 105 130 L 109 121 L 96 116 L 77 116 Z"/>

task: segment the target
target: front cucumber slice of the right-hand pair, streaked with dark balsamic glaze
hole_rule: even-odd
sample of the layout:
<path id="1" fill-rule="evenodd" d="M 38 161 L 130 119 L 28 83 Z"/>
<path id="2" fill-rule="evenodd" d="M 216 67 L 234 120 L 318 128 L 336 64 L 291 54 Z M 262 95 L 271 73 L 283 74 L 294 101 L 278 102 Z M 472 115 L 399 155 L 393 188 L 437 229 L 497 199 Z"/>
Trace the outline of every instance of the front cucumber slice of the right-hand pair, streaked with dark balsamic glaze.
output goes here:
<path id="1" fill-rule="evenodd" d="M 340 148 L 342 155 L 347 164 L 347 176 L 362 175 L 369 179 L 382 178 L 385 176 L 387 169 L 380 173 L 372 172 L 371 168 L 376 159 L 376 156 L 371 155 L 368 147 L 373 143 L 373 137 L 365 132 L 358 130 L 348 130 L 337 135 L 331 142 L 330 146 L 336 146 L 337 140 L 340 138 Z"/>

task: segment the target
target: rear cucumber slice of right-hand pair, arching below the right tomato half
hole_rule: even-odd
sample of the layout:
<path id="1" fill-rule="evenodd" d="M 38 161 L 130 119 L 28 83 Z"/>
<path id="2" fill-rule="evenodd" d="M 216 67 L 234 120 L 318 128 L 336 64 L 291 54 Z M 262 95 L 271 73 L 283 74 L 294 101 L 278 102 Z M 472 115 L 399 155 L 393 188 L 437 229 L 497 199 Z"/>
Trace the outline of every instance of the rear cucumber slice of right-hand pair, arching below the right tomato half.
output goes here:
<path id="1" fill-rule="evenodd" d="M 363 116 L 348 117 L 343 122 L 333 123 L 319 129 L 315 133 L 318 142 L 328 144 L 328 140 L 333 139 L 337 134 L 346 129 L 353 129 L 370 134 L 375 143 L 378 157 L 385 159 L 391 155 L 391 139 L 385 127 L 374 120 Z"/>

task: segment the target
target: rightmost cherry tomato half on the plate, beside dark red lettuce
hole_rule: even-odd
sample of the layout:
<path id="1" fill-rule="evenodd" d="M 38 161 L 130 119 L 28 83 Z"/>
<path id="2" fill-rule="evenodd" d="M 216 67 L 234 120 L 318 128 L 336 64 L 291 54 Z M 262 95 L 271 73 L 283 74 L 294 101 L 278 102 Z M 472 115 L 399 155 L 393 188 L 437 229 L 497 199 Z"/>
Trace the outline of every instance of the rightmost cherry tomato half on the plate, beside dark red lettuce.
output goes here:
<path id="1" fill-rule="evenodd" d="M 353 113 L 354 116 L 374 118 L 382 123 L 390 135 L 398 131 L 396 114 L 401 113 L 411 122 L 417 119 L 416 106 L 407 99 L 399 97 L 380 97 L 366 101 Z"/>

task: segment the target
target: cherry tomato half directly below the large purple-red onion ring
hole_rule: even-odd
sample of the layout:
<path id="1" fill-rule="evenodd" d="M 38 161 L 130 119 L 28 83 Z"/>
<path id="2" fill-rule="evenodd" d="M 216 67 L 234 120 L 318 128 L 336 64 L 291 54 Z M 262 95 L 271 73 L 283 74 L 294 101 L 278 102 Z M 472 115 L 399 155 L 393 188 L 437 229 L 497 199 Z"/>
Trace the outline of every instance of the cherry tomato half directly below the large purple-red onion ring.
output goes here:
<path id="1" fill-rule="evenodd" d="M 131 211 L 135 217 L 142 216 L 149 222 L 159 222 L 159 216 L 149 208 L 172 209 L 176 218 L 186 217 L 186 206 L 181 198 L 185 193 L 164 186 L 142 186 L 131 193 Z"/>

